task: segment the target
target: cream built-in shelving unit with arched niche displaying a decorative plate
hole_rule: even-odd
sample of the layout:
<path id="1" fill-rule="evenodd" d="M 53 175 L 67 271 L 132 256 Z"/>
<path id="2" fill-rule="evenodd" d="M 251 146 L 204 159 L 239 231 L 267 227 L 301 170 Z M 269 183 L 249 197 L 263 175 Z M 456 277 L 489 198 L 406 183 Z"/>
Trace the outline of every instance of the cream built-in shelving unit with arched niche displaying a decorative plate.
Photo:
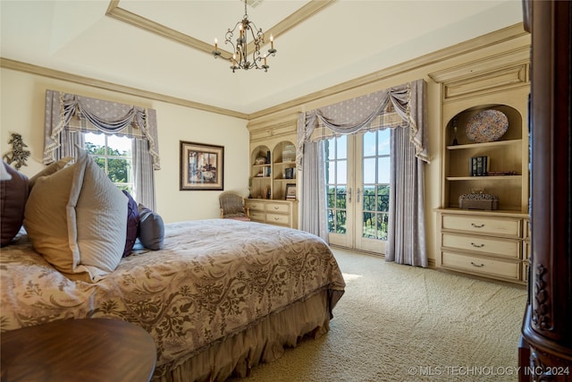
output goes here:
<path id="1" fill-rule="evenodd" d="M 529 160 L 527 131 L 528 49 L 430 74 L 442 85 L 442 192 L 436 208 L 437 267 L 517 284 L 526 283 L 529 251 Z M 475 142 L 467 123 L 485 110 L 506 115 L 506 132 Z M 492 112 L 494 113 L 494 112 Z M 495 137 L 496 138 L 496 137 Z M 472 174 L 471 158 L 489 168 Z M 494 175 L 491 175 L 493 174 Z M 466 194 L 498 199 L 495 209 L 467 209 Z"/>

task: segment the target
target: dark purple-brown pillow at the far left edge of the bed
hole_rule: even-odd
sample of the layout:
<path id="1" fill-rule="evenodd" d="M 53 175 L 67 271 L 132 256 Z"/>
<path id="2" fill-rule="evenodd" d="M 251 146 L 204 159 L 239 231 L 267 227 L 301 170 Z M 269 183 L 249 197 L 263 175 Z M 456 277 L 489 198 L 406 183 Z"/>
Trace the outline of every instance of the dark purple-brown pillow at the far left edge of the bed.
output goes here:
<path id="1" fill-rule="evenodd" d="M 11 179 L 0 181 L 0 208 L 1 208 L 1 232 L 2 240 L 0 246 L 8 245 L 20 231 L 24 220 L 24 209 L 28 200 L 28 176 L 21 174 L 18 170 L 8 166 L 2 161 L 5 173 Z"/>

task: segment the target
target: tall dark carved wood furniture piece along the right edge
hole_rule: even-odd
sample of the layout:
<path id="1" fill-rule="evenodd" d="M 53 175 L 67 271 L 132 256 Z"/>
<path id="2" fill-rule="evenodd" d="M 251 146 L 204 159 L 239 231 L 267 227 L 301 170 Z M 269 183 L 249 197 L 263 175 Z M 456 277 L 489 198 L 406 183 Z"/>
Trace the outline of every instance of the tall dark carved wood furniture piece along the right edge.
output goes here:
<path id="1" fill-rule="evenodd" d="M 531 246 L 520 380 L 572 381 L 572 2 L 523 2 L 531 49 Z"/>

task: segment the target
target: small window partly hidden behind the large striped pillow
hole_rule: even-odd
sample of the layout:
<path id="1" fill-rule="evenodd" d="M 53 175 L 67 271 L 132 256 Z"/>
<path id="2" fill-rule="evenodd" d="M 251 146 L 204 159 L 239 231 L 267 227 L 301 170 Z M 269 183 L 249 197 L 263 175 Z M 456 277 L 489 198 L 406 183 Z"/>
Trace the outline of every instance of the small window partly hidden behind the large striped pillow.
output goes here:
<path id="1" fill-rule="evenodd" d="M 120 190 L 134 194 L 132 139 L 104 133 L 84 133 L 85 149 Z"/>

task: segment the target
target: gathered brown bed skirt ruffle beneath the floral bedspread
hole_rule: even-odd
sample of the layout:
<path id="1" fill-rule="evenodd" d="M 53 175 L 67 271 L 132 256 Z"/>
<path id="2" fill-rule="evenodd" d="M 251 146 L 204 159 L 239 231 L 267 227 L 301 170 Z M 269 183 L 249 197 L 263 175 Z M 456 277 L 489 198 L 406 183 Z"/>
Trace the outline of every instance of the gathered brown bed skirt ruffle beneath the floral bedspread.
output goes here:
<path id="1" fill-rule="evenodd" d="M 259 363 L 279 359 L 304 336 L 318 338 L 330 329 L 327 290 L 273 313 L 221 343 L 210 345 L 153 382 L 224 381 L 247 377 Z M 337 300 L 337 299 L 336 299 Z"/>

